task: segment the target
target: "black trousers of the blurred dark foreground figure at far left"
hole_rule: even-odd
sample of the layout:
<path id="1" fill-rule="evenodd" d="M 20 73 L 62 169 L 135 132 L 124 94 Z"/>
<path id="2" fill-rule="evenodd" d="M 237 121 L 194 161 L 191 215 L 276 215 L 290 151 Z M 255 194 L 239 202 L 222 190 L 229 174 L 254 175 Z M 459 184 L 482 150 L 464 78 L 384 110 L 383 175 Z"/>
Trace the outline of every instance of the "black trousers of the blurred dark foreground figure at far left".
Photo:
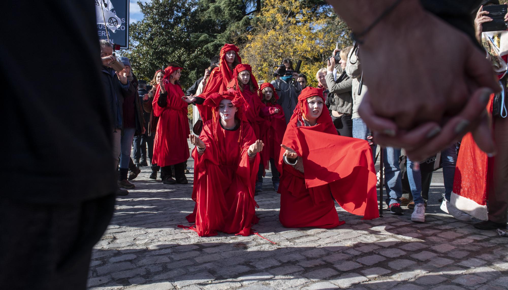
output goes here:
<path id="1" fill-rule="evenodd" d="M 111 220 L 114 203 L 114 194 L 65 205 L 3 198 L 2 288 L 86 289 L 91 250 Z"/>

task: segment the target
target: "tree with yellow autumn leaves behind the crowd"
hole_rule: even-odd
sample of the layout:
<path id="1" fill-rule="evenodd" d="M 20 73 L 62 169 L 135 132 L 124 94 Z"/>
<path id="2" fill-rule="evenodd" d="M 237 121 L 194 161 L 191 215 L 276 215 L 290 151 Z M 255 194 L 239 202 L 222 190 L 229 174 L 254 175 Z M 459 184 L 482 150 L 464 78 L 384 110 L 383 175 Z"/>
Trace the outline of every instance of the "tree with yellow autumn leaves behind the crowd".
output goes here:
<path id="1" fill-rule="evenodd" d="M 335 43 L 339 48 L 352 44 L 350 30 L 328 5 L 316 1 L 265 0 L 247 43 L 241 49 L 243 62 L 252 66 L 258 80 L 270 82 L 272 69 L 284 58 L 302 60 L 300 73 L 316 86 L 317 70 L 326 66 Z"/>

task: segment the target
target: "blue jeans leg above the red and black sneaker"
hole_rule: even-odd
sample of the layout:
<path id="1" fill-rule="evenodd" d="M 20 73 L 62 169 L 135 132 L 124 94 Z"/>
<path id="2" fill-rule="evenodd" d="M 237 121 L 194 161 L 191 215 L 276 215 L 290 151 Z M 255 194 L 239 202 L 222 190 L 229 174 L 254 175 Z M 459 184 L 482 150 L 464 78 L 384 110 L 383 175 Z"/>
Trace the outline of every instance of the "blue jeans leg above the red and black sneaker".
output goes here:
<path id="1" fill-rule="evenodd" d="M 385 158 L 385 189 L 388 198 L 386 204 L 400 203 L 402 197 L 402 179 L 400 176 L 399 157 L 400 149 L 393 147 L 383 148 Z M 421 182 L 420 182 L 421 183 Z"/>

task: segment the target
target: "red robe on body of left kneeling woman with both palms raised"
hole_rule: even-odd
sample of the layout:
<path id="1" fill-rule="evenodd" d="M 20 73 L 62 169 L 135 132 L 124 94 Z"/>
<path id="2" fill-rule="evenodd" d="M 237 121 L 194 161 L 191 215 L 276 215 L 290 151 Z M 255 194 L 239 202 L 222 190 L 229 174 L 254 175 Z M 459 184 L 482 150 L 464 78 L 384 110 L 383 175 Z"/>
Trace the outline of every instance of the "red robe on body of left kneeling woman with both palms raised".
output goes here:
<path id="1" fill-rule="evenodd" d="M 217 231 L 247 236 L 259 221 L 254 200 L 259 155 L 253 163 L 247 155 L 256 136 L 247 122 L 235 131 L 224 130 L 220 124 L 216 131 L 213 127 L 212 120 L 203 125 L 204 154 L 193 151 L 196 206 L 187 220 L 196 223 L 191 229 L 199 236 L 214 236 Z"/>

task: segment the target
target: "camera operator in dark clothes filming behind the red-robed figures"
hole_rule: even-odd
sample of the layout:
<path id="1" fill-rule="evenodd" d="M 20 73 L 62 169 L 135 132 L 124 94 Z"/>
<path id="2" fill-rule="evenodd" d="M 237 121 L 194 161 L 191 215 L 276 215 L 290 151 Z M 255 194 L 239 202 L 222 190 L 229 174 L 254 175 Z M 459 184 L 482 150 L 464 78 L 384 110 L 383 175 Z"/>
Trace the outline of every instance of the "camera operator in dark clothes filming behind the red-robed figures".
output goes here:
<path id="1" fill-rule="evenodd" d="M 284 59 L 282 63 L 286 69 L 293 69 L 293 62 L 291 60 Z M 297 82 L 298 73 L 295 72 L 292 75 L 287 76 L 285 74 L 285 69 L 283 69 L 284 74 L 279 74 L 279 71 L 282 72 L 282 69 L 279 68 L 275 71 L 275 80 L 272 81 L 271 84 L 275 88 L 277 95 L 280 97 L 277 100 L 277 103 L 282 106 L 285 122 L 288 124 L 291 116 L 293 115 L 293 111 L 295 110 L 296 101 L 298 95 L 302 91 L 302 86 Z"/>

